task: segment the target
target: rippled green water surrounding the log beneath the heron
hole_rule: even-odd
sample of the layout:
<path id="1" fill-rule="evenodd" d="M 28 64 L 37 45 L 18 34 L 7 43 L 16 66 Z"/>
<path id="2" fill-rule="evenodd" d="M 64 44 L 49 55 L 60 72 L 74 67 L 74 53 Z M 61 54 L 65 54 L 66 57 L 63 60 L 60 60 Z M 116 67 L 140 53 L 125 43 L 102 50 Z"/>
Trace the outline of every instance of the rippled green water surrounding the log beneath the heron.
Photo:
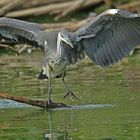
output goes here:
<path id="1" fill-rule="evenodd" d="M 42 52 L 0 56 L 0 92 L 47 97 L 38 81 Z M 85 60 L 68 67 L 66 81 L 78 100 L 63 99 L 61 79 L 53 80 L 53 100 L 71 109 L 43 109 L 0 100 L 0 140 L 140 140 L 140 53 L 101 69 Z"/>

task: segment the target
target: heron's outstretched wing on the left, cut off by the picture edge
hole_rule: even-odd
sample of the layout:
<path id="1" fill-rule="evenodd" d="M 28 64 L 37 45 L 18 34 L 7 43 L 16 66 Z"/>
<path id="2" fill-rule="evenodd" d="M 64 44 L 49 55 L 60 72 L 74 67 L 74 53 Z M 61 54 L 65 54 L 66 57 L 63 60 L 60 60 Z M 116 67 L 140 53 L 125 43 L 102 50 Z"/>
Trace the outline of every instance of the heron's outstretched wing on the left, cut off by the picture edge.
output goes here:
<path id="1" fill-rule="evenodd" d="M 2 17 L 0 18 L 0 39 L 41 46 L 40 34 L 43 28 L 37 23 Z"/>

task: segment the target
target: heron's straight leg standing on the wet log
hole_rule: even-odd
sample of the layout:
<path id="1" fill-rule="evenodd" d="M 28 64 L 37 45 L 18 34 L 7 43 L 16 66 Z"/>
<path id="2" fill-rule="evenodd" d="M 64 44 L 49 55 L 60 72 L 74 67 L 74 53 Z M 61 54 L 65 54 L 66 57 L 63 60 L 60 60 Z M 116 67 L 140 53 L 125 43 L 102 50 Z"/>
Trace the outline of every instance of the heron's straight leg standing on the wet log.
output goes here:
<path id="1" fill-rule="evenodd" d="M 49 73 L 48 73 L 48 104 L 50 104 L 52 102 L 51 94 L 52 94 L 51 72 L 49 71 Z"/>

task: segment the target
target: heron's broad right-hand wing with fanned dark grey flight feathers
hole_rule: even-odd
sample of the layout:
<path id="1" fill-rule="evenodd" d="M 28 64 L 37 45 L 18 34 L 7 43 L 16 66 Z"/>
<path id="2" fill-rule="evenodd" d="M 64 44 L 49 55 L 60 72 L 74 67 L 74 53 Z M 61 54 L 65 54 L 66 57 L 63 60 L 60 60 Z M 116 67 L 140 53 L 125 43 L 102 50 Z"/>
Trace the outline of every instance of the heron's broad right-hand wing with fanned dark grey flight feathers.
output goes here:
<path id="1" fill-rule="evenodd" d="M 74 42 L 96 64 L 114 64 L 140 44 L 140 16 L 110 9 L 75 32 Z"/>

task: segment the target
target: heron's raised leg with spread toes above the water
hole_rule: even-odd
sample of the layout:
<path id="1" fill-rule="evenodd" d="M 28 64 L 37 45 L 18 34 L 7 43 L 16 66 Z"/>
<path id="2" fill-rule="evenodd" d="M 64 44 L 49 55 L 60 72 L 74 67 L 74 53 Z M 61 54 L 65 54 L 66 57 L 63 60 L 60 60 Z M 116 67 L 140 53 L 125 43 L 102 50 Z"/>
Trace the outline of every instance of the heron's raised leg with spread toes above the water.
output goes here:
<path id="1" fill-rule="evenodd" d="M 62 74 L 62 81 L 63 81 L 63 83 L 64 83 L 64 85 L 65 85 L 65 87 L 66 87 L 66 89 L 68 90 L 68 93 L 66 94 L 66 95 L 64 95 L 64 99 L 66 98 L 66 97 L 74 97 L 74 98 L 77 98 L 77 96 L 72 92 L 72 90 L 67 86 L 67 84 L 66 84 L 66 81 L 65 81 L 65 73 L 63 72 L 63 74 Z"/>

